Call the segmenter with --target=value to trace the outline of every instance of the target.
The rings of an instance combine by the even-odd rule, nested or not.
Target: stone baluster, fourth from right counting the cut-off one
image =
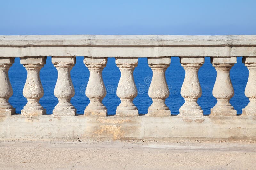
[[[148,96],[153,103],[148,108],[148,116],[171,116],[171,111],[165,104],[169,96],[169,88],[165,79],[165,70],[170,66],[171,58],[148,58],[148,66],[153,71],[152,81],[148,89]]]

